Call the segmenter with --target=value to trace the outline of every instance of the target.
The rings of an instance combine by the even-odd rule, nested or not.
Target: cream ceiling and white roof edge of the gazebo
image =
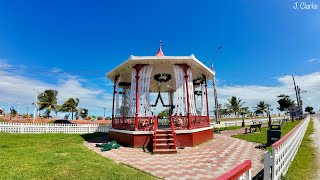
[[[124,61],[118,67],[107,73],[107,77],[114,82],[114,77],[120,75],[120,82],[131,82],[131,73],[133,66],[139,64],[153,65],[150,91],[158,92],[159,84],[154,80],[154,75],[158,73],[169,73],[172,79],[168,82],[162,83],[160,91],[166,92],[169,90],[175,90],[175,75],[173,65],[175,64],[187,64],[192,70],[193,79],[202,77],[205,75],[207,79],[211,79],[214,76],[207,66],[200,62],[194,55],[191,56],[130,56],[128,60]]]

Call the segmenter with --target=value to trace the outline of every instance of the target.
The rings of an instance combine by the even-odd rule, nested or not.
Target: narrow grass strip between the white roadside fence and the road
[[[312,139],[309,137],[314,132],[313,121],[311,120],[303,137],[300,148],[292,161],[285,179],[317,179],[316,149]]]

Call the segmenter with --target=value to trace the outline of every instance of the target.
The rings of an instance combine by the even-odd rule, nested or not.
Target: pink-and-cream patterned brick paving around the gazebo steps
[[[214,136],[199,146],[178,149],[177,154],[154,155],[129,147],[101,152],[95,143],[84,144],[104,157],[165,179],[213,179],[248,159],[252,161],[253,176],[263,169],[264,151],[255,148],[257,143],[232,138],[230,132]]]

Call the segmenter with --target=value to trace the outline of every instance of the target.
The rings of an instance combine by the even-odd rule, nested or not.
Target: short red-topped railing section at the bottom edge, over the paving
[[[219,176],[215,180],[237,179],[237,180],[251,180],[251,161],[246,160],[239,166],[233,168],[231,171]]]

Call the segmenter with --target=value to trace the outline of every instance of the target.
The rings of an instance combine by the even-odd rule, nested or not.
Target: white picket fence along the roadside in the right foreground
[[[278,180],[288,171],[308,128],[310,116],[272,145],[272,154],[264,154],[264,180]]]

